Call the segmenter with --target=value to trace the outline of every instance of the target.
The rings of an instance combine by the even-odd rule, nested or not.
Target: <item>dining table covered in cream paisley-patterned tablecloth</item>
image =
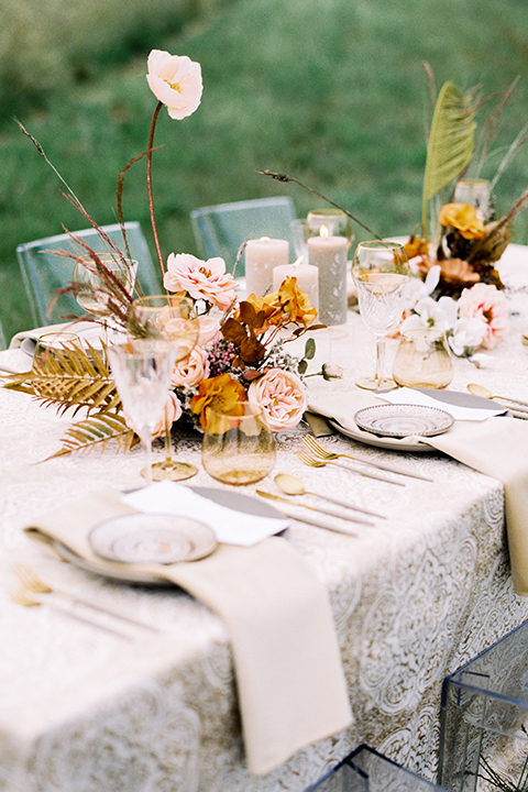
[[[448,391],[480,383],[528,400],[528,248],[509,245],[499,272],[510,332],[479,366],[454,358]],[[23,338],[0,353],[4,372],[31,367]],[[316,403],[352,393],[356,378],[372,373],[375,356],[374,338],[355,310],[320,338],[343,376],[307,378]],[[387,341],[388,365],[398,343],[396,337]],[[258,776],[248,768],[221,616],[184,587],[96,574],[24,531],[57,506],[70,507],[75,520],[76,504],[101,487],[144,486],[139,446],[57,455],[72,420],[32,395],[0,389],[0,789],[302,792],[362,743],[436,779],[443,679],[528,619],[528,598],[513,585],[499,479],[431,447],[366,444],[331,424],[319,437],[327,450],[411,475],[367,477],[344,458],[339,465],[308,466],[296,453],[312,436],[301,421],[277,432],[276,463],[266,479],[233,487],[201,466],[197,432],[176,433],[175,454],[198,468],[183,486],[232,493],[233,503],[240,494],[258,501],[257,490],[288,499],[274,476],[289,473],[311,493],[380,515],[341,532],[339,507],[333,517],[317,515],[326,527],[304,521],[315,513],[299,504],[329,506],[316,495],[275,503],[288,515],[283,538],[327,592],[353,719]],[[161,442],[154,453],[163,455]],[[34,607],[15,602],[20,564],[54,588],[133,622],[116,630],[116,620],[81,620],[44,596]]]

